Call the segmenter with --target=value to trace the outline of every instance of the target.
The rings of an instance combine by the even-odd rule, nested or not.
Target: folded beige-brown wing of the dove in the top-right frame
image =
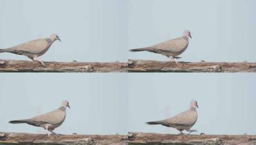
[[[184,48],[188,47],[189,40],[184,37],[179,37],[169,41],[165,41],[152,46],[156,50],[167,51],[171,53],[178,53],[183,51]]]

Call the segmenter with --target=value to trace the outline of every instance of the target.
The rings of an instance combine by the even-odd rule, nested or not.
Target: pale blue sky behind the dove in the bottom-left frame
[[[2,73],[0,131],[44,134],[44,129],[11,120],[30,118],[69,101],[59,134],[126,134],[127,74]]]

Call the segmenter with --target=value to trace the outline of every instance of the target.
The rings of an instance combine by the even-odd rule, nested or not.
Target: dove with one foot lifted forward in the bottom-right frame
[[[183,130],[186,130],[189,132],[189,134],[191,134],[192,132],[197,132],[197,130],[190,130],[190,128],[197,122],[197,108],[199,108],[197,101],[192,100],[187,111],[182,112],[172,118],[168,118],[161,121],[146,122],[146,124],[161,124],[163,126],[176,128],[182,135],[185,135],[182,132]]]

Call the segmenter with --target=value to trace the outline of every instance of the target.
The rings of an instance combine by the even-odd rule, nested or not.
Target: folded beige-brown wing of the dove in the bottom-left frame
[[[60,124],[62,123],[66,118],[66,112],[60,109],[57,109],[55,111],[42,114],[39,116],[35,116],[31,118],[31,121],[35,122],[43,122],[47,124]]]

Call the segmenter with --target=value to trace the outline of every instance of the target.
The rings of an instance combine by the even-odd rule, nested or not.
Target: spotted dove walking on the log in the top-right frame
[[[182,54],[189,46],[189,38],[192,39],[190,31],[184,31],[182,37],[178,37],[175,39],[171,39],[169,41],[165,41],[162,43],[158,43],[156,45],[139,48],[139,49],[132,49],[129,50],[130,52],[154,52],[159,53],[162,55],[171,58],[177,65],[178,62],[175,59],[180,59],[181,57],[177,57],[178,55]]]

